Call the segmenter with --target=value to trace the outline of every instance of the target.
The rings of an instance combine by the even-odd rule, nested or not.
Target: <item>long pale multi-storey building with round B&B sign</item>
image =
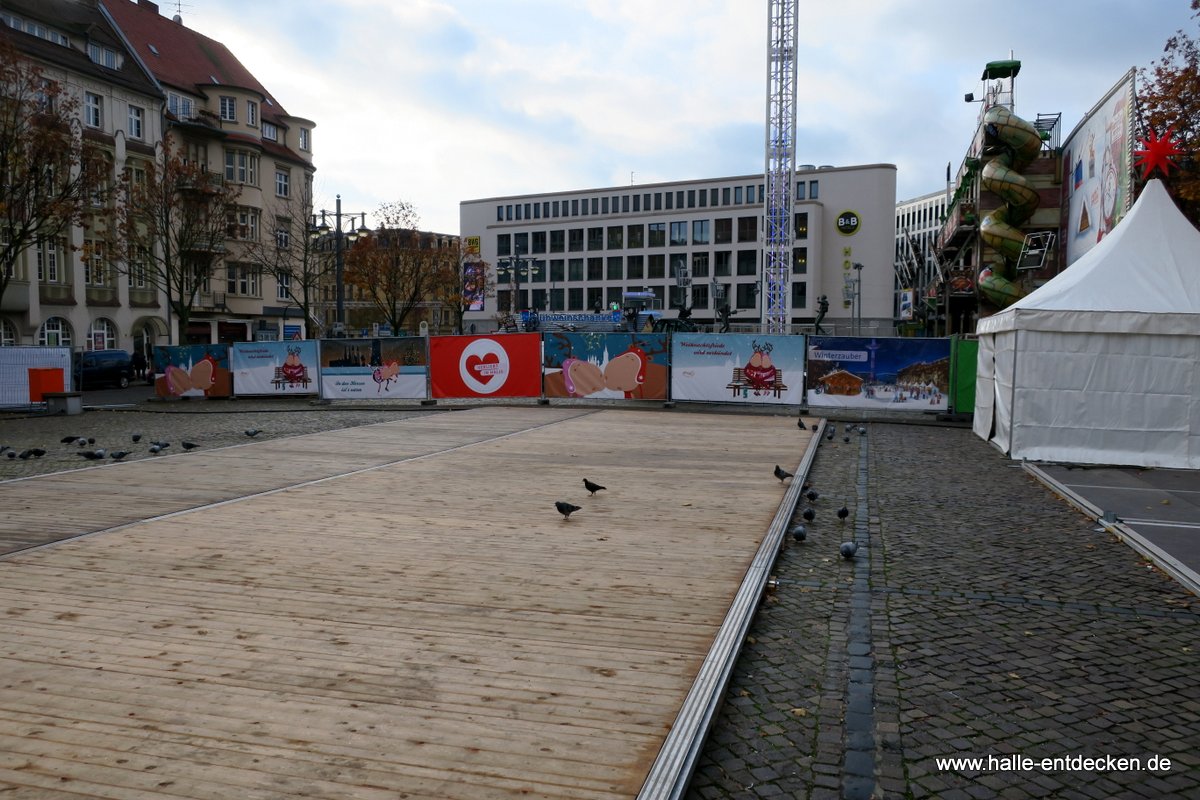
[[[890,335],[895,167],[804,166],[794,191],[792,326],[809,330],[827,296],[827,331],[860,320]],[[686,307],[701,324],[727,302],[736,326],[757,330],[762,218],[762,175],[466,200],[460,233],[479,237],[496,293],[464,321],[486,331],[508,312],[620,308],[642,291],[666,317]]]

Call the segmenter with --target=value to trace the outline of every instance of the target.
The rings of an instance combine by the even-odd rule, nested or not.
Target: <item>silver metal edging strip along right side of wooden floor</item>
[[[796,469],[796,475],[767,529],[767,535],[758,546],[758,552],[742,579],[742,585],[730,604],[730,610],[721,621],[713,646],[704,656],[696,680],[692,681],[688,697],[679,708],[674,724],[671,726],[671,733],[664,740],[662,748],[647,774],[637,800],[678,800],[688,790],[691,774],[696,769],[696,762],[700,759],[704,740],[708,738],[708,730],[716,718],[716,712],[730,682],[730,675],[733,673],[733,666],[742,651],[742,643],[745,640],[746,631],[750,628],[755,610],[758,608],[758,599],[770,577],[770,569],[779,554],[787,522],[800,498],[804,476],[809,474],[812,461],[816,458],[817,446],[826,425],[827,422],[821,420],[816,433],[809,440],[808,450]]]

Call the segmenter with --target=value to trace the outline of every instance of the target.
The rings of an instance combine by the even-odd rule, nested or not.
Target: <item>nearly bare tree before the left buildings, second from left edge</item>
[[[144,175],[126,173],[118,211],[118,269],[137,273],[167,295],[180,332],[226,254],[238,239],[236,185],[217,173],[167,155]],[[174,339],[172,339],[174,341]]]

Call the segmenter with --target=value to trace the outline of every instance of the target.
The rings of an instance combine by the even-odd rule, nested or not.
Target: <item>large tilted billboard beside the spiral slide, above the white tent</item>
[[[1130,70],[1063,143],[1067,266],[1104,239],[1132,204],[1133,97]]]

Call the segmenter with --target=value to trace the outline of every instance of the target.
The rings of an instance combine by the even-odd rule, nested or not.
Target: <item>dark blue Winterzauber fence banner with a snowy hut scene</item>
[[[810,336],[809,407],[944,411],[950,341]]]

